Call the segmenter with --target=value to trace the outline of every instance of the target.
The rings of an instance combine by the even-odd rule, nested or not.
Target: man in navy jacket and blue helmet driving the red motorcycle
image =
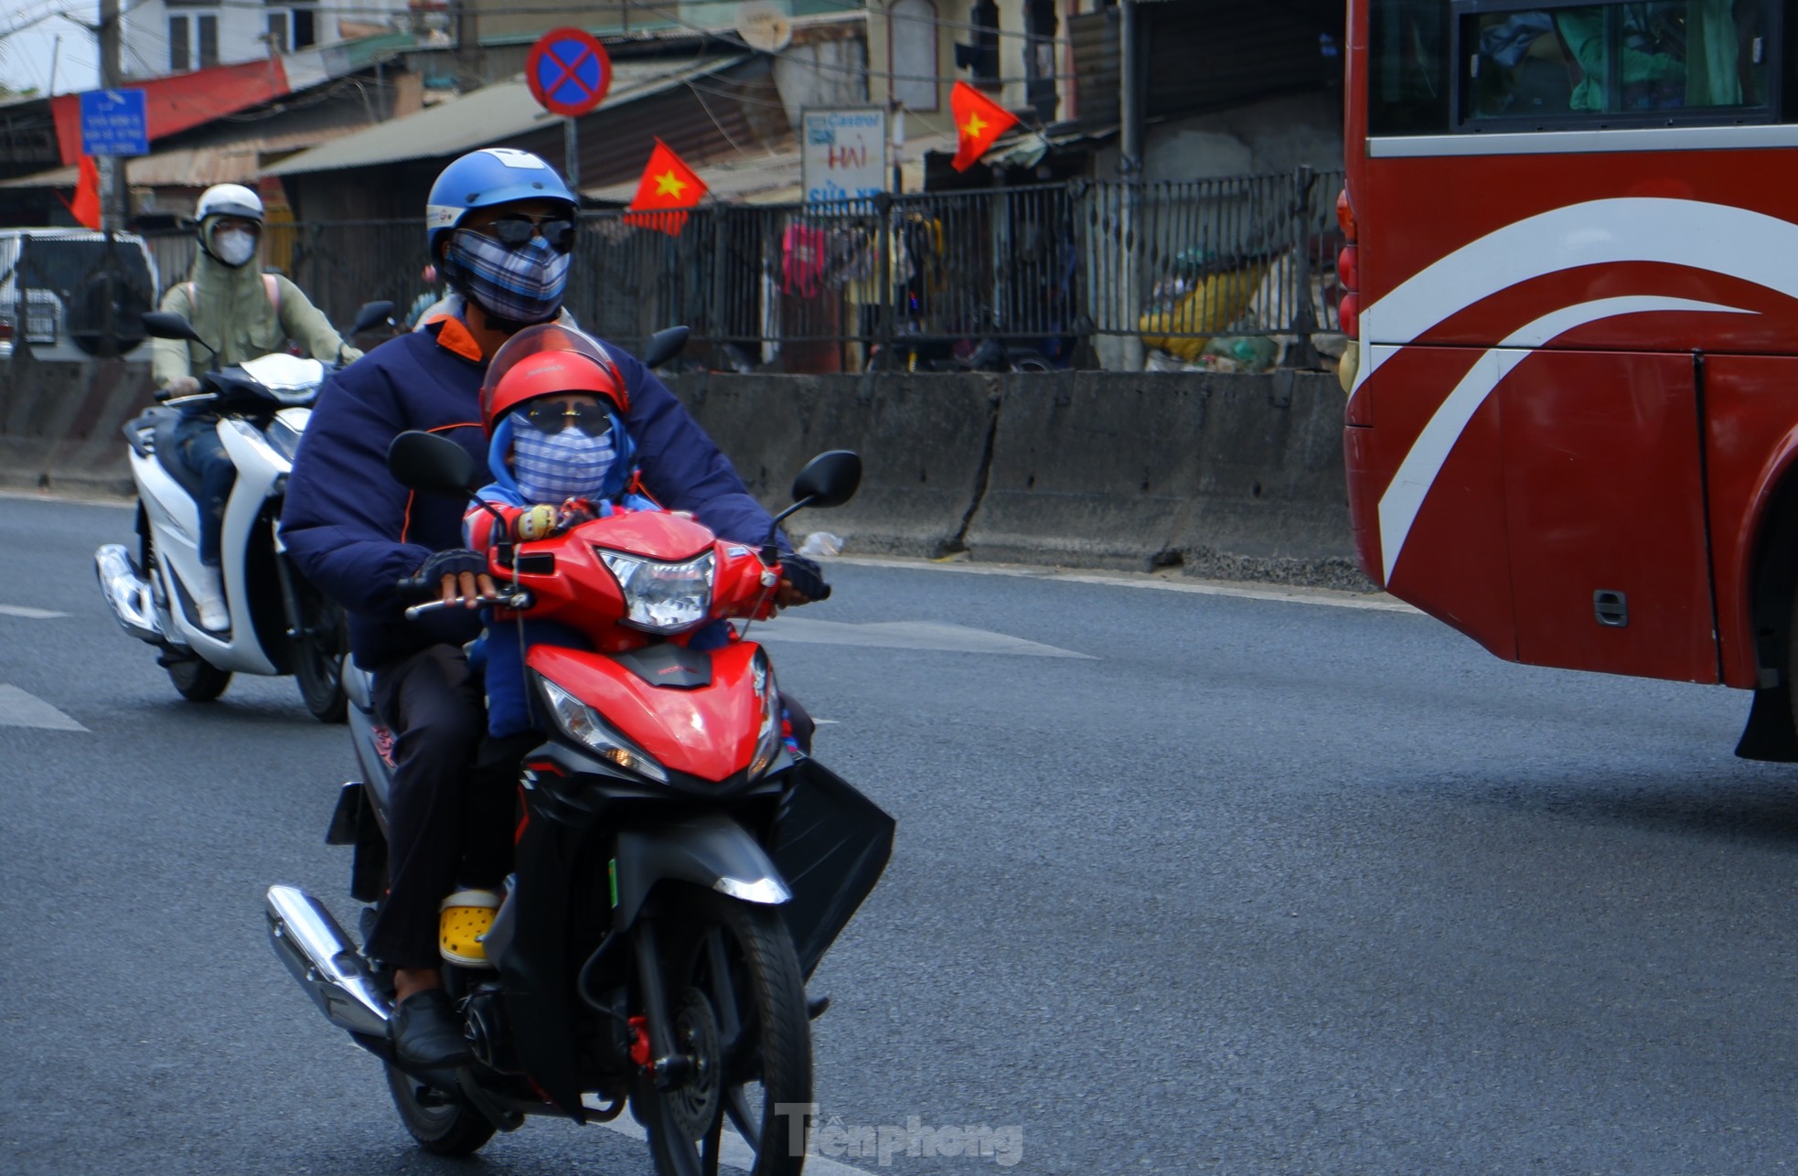
[[[405,430],[442,433],[484,466],[480,385],[493,352],[561,313],[577,198],[538,156],[489,147],[450,164],[426,205],[426,243],[455,291],[417,331],[331,378],[288,484],[282,538],[302,574],[349,611],[351,651],[397,732],[388,807],[388,894],[365,951],[394,969],[396,1052],[458,1065],[467,1041],[442,993],[439,903],[496,888],[509,869],[516,759],[484,741],[478,682],[462,646],[480,633],[485,557],[462,547],[466,503],[412,494],[387,471]],[[615,351],[628,428],[647,489],[716,534],[761,543],[770,516],[680,401]],[[816,565],[789,557],[777,601],[823,592]],[[396,584],[421,575],[467,608],[403,619]],[[460,883],[460,886],[458,886]]]

